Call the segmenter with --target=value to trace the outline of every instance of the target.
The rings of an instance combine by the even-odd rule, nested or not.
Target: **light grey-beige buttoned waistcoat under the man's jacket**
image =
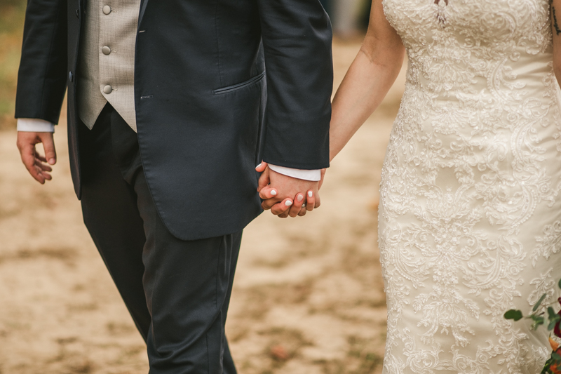
[[[135,44],[140,0],[88,0],[76,100],[88,128],[109,102],[136,131]]]

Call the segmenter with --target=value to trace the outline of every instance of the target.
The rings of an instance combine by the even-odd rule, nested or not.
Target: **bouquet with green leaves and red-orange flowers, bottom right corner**
[[[561,279],[559,283],[557,283],[559,288],[561,288]],[[545,314],[547,311],[547,319],[548,319],[548,330],[553,330],[553,334],[557,338],[561,338],[561,329],[560,329],[560,322],[561,322],[561,310],[555,313],[553,307],[555,302],[551,305],[548,305],[547,308],[544,306],[540,309],[541,303],[543,300],[546,300],[548,294],[544,293],[539,298],[538,302],[532,308],[532,314],[529,316],[523,316],[522,312],[518,309],[510,309],[504,314],[504,318],[506,319],[513,319],[514,321],[519,321],[522,318],[531,319],[532,320],[532,330],[536,330],[540,325],[544,325],[546,323]],[[557,299],[557,302],[561,305],[561,298]],[[540,312],[538,312],[540,309]],[[545,311],[544,311],[545,309]],[[550,359],[546,361],[546,364],[543,366],[541,370],[541,374],[561,374],[561,347],[558,342],[556,342],[552,337],[551,334],[549,335],[549,344],[553,351],[551,352]]]

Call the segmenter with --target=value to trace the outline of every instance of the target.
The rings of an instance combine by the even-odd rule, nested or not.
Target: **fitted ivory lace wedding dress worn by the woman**
[[[436,3],[436,4],[435,4]],[[561,91],[548,0],[384,0],[407,48],[381,176],[384,373],[538,374],[506,321],[561,278]]]

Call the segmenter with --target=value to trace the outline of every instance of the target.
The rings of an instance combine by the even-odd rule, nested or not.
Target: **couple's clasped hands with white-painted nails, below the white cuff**
[[[306,215],[313,208],[320,206],[318,190],[323,183],[325,169],[321,171],[321,179],[318,182],[292,178],[287,175],[272,171],[266,162],[259,163],[255,168],[261,174],[257,192],[263,199],[261,204],[264,210],[280,218],[296,217]]]

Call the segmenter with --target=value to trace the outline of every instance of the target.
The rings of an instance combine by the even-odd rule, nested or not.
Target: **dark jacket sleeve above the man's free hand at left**
[[[58,123],[67,85],[67,0],[29,0],[15,117]]]

